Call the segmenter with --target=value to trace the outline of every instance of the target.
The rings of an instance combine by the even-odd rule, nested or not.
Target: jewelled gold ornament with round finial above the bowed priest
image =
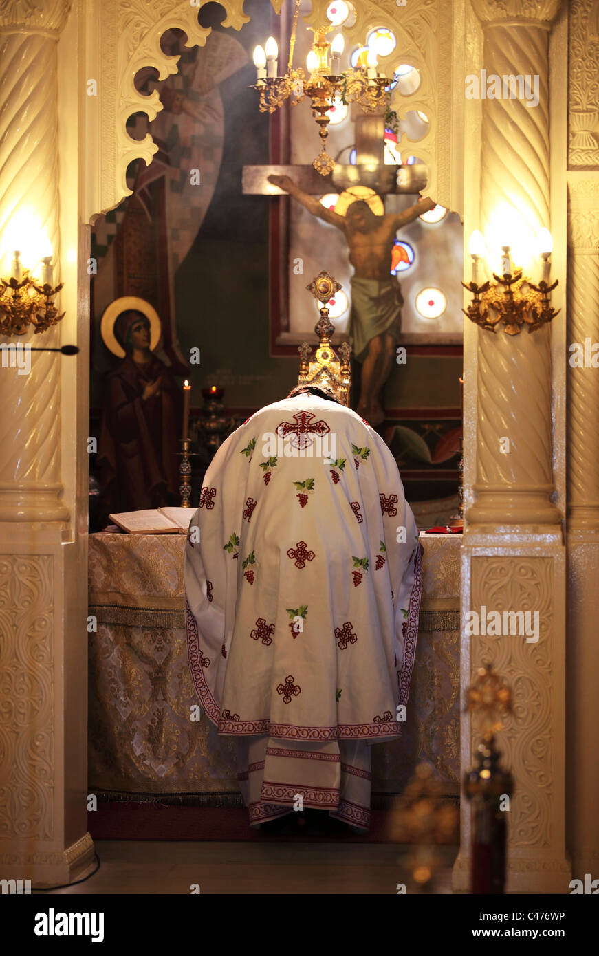
[[[333,349],[331,337],[334,333],[334,325],[329,318],[327,308],[327,303],[331,301],[334,293],[341,289],[341,285],[332,275],[329,275],[329,272],[320,272],[306,288],[315,299],[322,303],[320,318],[314,326],[314,332],[320,344],[313,358],[308,342],[302,342],[299,346],[297,351],[300,354],[300,370],[297,384],[312,385],[314,388],[322,388],[324,392],[332,392],[337,402],[349,405],[352,349],[348,342],[341,343],[338,354]]]

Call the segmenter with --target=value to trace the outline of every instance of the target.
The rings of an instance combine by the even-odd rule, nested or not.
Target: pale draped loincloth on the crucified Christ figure
[[[371,338],[388,333],[399,337],[399,318],[403,297],[394,278],[363,279],[352,276],[352,315],[349,333],[353,354],[364,361]]]

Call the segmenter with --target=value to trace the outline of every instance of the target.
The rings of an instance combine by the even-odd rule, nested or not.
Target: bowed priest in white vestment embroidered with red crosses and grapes
[[[251,824],[318,808],[368,829],[370,745],[399,735],[408,699],[420,554],[392,453],[334,400],[267,405],[219,448],[187,538],[187,641],[206,715],[238,738]]]

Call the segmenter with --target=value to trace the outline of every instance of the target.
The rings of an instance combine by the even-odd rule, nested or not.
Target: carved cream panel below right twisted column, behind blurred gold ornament
[[[474,556],[471,609],[537,611],[539,641],[525,637],[472,637],[472,676],[485,663],[512,688],[513,713],[497,735],[499,750],[515,779],[509,814],[509,843],[518,848],[548,848],[552,842],[551,798],[554,784],[555,647],[553,635],[553,560],[550,557]],[[475,745],[478,743],[475,734]],[[474,755],[475,747],[472,753]]]

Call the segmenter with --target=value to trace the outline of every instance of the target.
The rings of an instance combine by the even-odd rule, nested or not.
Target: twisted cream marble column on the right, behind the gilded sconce
[[[537,234],[550,225],[547,36],[559,0],[528,4],[525,19],[521,6],[516,0],[474,2],[487,76],[534,77],[528,98],[483,100],[481,231],[487,246],[497,249],[507,227],[515,266],[530,274]],[[517,14],[518,20],[510,18]],[[539,101],[533,105],[536,83]],[[531,278],[537,278],[534,271]],[[477,501],[468,523],[555,524],[560,513],[549,501],[550,330],[507,336],[501,328],[479,329],[478,353]]]

